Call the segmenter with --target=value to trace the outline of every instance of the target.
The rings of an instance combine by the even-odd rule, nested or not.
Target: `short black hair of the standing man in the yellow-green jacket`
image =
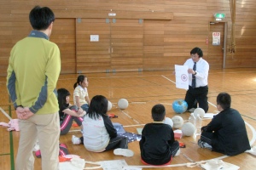
[[[29,20],[34,30],[46,30],[55,21],[55,14],[48,7],[36,6],[30,11]]]

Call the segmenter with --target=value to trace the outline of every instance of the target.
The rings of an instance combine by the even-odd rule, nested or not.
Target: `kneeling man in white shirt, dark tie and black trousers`
[[[193,48],[190,55],[191,58],[184,63],[189,66],[189,89],[185,101],[188,103],[188,111],[193,111],[199,104],[199,107],[207,113],[209,108],[207,102],[209,64],[202,59],[201,48]]]

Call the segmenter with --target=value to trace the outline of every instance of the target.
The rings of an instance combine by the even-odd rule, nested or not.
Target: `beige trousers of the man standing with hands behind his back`
[[[15,169],[34,169],[32,149],[38,139],[42,156],[42,170],[57,170],[59,168],[59,113],[56,112],[47,115],[35,114],[27,120],[19,120],[19,126],[20,141]]]

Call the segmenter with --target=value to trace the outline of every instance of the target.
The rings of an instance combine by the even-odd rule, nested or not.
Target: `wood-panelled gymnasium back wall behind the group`
[[[78,18],[87,20],[86,26],[75,23],[75,43],[65,47],[65,54],[73,55],[73,50],[76,53],[76,63],[73,59],[65,57],[63,65],[67,62],[72,62],[72,66],[76,65],[76,70],[65,66],[62,73],[69,72],[100,72],[112,71],[132,71],[134,68],[131,65],[142,65],[143,70],[158,70],[173,69],[173,65],[183,64],[185,59],[189,58],[191,48],[202,48],[205,58],[210,56],[211,47],[206,43],[206,39],[210,32],[210,21],[214,21],[213,14],[225,13],[226,18],[223,22],[227,23],[227,45],[226,45],[226,68],[236,67],[255,67],[255,38],[256,38],[256,2],[253,0],[237,0],[236,1],[236,53],[230,54],[228,49],[230,45],[230,1],[222,0],[52,0],[52,1],[32,1],[32,0],[0,0],[0,76],[6,76],[6,69],[9,59],[9,51],[23,37],[26,37],[31,26],[28,22],[28,14],[32,7],[39,4],[41,6],[49,6],[55,12],[56,19],[76,20]],[[115,17],[109,17],[108,13],[115,13]],[[125,51],[131,49],[126,45],[131,45],[140,48],[143,46],[143,54],[137,53],[135,49],[134,58],[119,59],[108,52],[110,48],[110,26],[99,26],[93,23],[93,20],[102,19],[103,23],[106,19],[109,20],[143,20],[143,36],[134,38],[135,42],[129,42],[129,38],[125,37],[124,33],[116,30],[119,34],[119,49]],[[151,20],[151,21],[149,21]],[[67,24],[67,23],[66,23]],[[71,24],[71,23],[70,23]],[[95,25],[96,24],[96,25]],[[126,25],[122,23],[121,25]],[[95,25],[95,26],[94,26]],[[122,26],[119,27],[122,27]],[[71,28],[72,26],[63,25]],[[135,33],[127,27],[127,32],[131,32],[131,37]],[[135,26],[136,27],[136,26]],[[56,27],[59,29],[60,27]],[[54,28],[55,29],[55,28]],[[141,28],[140,28],[141,29]],[[101,41],[91,43],[88,36],[92,33],[99,34]],[[107,33],[109,32],[109,33]],[[139,32],[141,33],[141,32]],[[122,36],[121,36],[122,35]],[[137,33],[138,35],[138,33]],[[113,35],[114,36],[114,35]],[[62,37],[56,37],[63,41]],[[55,39],[55,38],[53,38]],[[153,41],[154,40],[154,41]],[[123,41],[123,42],[122,42]],[[132,40],[133,41],[133,40]],[[61,42],[63,43],[63,42]],[[139,45],[137,45],[139,44]],[[85,50],[86,49],[86,50]],[[113,61],[113,62],[112,62]],[[96,63],[98,65],[96,66]],[[136,62],[136,64],[134,63]],[[214,68],[215,61],[210,61],[211,68]],[[86,65],[86,66],[84,66]],[[115,65],[115,66],[113,66]],[[210,65],[210,66],[211,66]],[[218,67],[218,66],[217,66]],[[67,69],[67,71],[65,71]],[[126,70],[128,69],[128,70]],[[137,71],[135,69],[134,71]]]

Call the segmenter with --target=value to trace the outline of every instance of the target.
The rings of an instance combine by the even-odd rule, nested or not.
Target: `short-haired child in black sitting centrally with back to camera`
[[[150,165],[169,164],[172,157],[180,153],[179,143],[174,139],[172,127],[163,122],[166,117],[165,106],[154,105],[151,113],[154,122],[143,127],[139,143],[142,161]]]

